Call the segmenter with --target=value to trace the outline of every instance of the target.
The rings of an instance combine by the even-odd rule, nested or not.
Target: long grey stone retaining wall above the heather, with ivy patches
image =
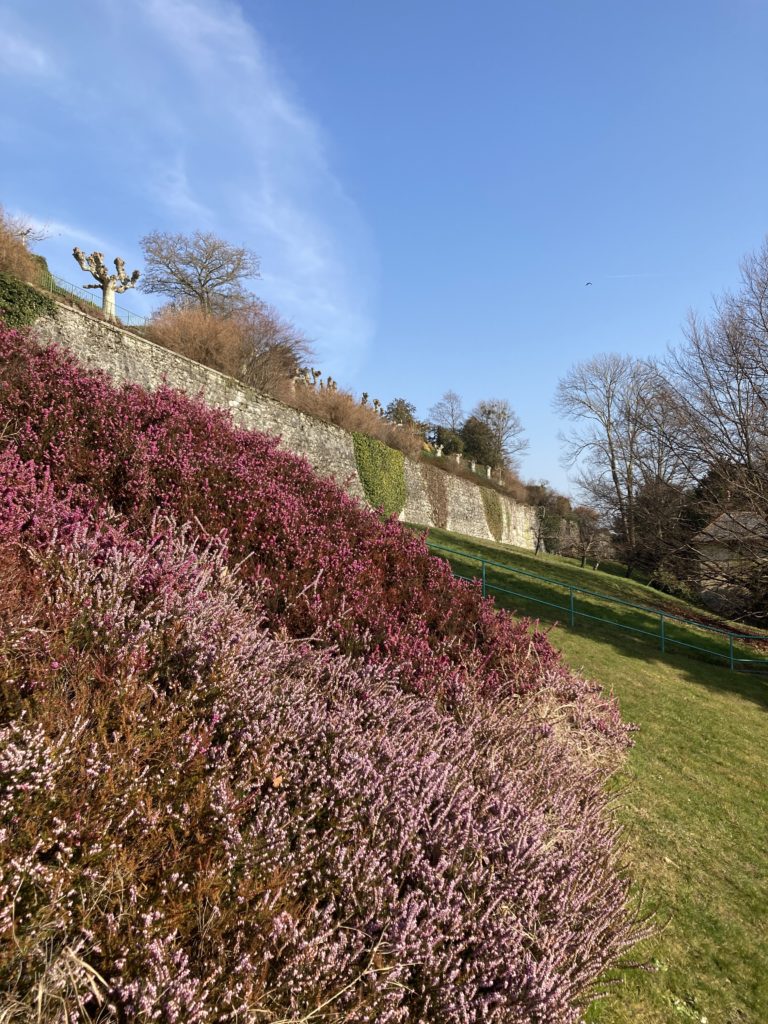
[[[350,495],[365,501],[352,437],[345,430],[300,413],[139,335],[94,319],[62,303],[57,306],[55,319],[45,317],[35,325],[35,336],[42,344],[63,345],[84,366],[104,371],[119,384],[138,384],[147,390],[167,384],[225,410],[239,426],[280,437],[284,447],[304,456],[319,475],[333,477]],[[447,528],[492,540],[480,484],[451,473],[442,475]],[[439,512],[430,502],[426,468],[408,458],[406,487],[408,497],[400,518],[425,526],[438,525]],[[504,520],[502,541],[532,550],[534,510],[503,495],[499,497]]]

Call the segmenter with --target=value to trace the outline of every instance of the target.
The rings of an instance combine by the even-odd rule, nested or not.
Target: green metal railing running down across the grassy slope
[[[636,636],[650,638],[662,654],[684,650],[725,663],[731,671],[740,669],[768,673],[768,658],[752,656],[754,651],[749,647],[750,643],[766,644],[768,638],[733,633],[659,608],[633,604],[610,594],[539,575],[504,562],[490,561],[480,555],[430,542],[427,542],[427,546],[430,551],[441,553],[450,562],[454,575],[461,580],[479,582],[483,597],[499,594],[562,612],[562,616],[556,616],[557,621],[570,628],[574,628],[580,622],[601,623]],[[457,563],[461,565],[463,562],[470,562],[469,568],[476,566],[476,571],[470,575],[457,571]],[[518,589],[506,586],[507,583],[512,583]],[[615,608],[613,617],[606,617],[605,605]],[[707,640],[710,643],[705,646]]]

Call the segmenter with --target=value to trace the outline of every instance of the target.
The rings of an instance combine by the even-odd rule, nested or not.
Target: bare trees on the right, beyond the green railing
[[[731,614],[768,615],[768,240],[667,357],[580,362],[555,408],[629,572],[672,589],[716,579]]]

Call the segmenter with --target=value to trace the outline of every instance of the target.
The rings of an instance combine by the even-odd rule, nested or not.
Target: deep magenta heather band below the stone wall
[[[273,629],[387,665],[403,687],[443,699],[467,686],[496,696],[544,687],[569,709],[580,741],[591,736],[607,757],[626,743],[614,702],[570,674],[543,634],[224,414],[170,389],[117,389],[0,330],[0,423],[8,451],[74,505],[110,509],[133,529],[150,530],[161,512],[225,536]]]

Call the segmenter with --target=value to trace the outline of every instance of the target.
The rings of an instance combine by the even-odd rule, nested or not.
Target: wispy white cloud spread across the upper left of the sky
[[[86,33],[83,5],[71,17],[47,0],[37,32],[34,4],[5,4],[0,59],[38,75],[47,51],[58,61],[60,88],[44,103],[18,90],[17,166],[0,167],[0,181],[8,200],[57,221],[45,251],[59,272],[75,244],[140,266],[147,231],[213,231],[260,256],[254,290],[315,339],[334,377],[353,375],[373,336],[373,246],[322,125],[254,24],[259,5],[102,0]],[[20,170],[32,143],[29,160],[55,163],[44,202]]]

